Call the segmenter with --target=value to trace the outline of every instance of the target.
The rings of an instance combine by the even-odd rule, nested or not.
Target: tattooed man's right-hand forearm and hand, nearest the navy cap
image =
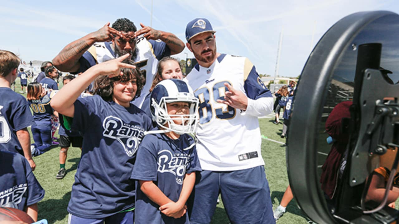
[[[176,35],[174,35],[173,33],[156,30],[149,26],[144,26],[142,23],[140,23],[140,26],[142,27],[142,29],[136,31],[136,33],[134,34],[136,37],[144,33],[144,37],[147,39],[160,39],[164,41],[166,45],[168,45],[171,55],[175,55],[183,51],[183,41],[176,37]]]

